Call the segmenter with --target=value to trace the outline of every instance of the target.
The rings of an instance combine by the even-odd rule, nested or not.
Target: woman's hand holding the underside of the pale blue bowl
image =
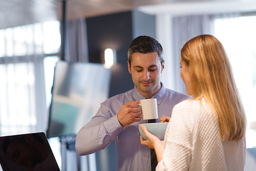
[[[155,148],[156,145],[161,143],[160,139],[157,138],[155,135],[151,134],[150,132],[147,131],[146,126],[140,125],[141,130],[145,133],[147,140],[144,140],[140,136],[140,143],[142,145],[146,145],[148,148]]]

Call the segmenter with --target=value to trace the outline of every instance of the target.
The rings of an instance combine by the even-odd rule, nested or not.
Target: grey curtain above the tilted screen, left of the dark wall
[[[86,18],[67,22],[65,60],[89,62]]]

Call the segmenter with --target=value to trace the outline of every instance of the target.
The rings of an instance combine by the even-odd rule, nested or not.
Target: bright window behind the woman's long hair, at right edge
[[[247,148],[256,147],[256,16],[215,19],[247,117]]]

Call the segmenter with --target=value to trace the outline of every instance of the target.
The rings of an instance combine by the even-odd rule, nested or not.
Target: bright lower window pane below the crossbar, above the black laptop
[[[1,133],[35,131],[35,75],[32,62],[0,65]]]

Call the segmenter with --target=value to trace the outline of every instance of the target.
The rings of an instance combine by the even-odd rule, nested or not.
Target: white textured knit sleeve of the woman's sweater
[[[191,156],[191,120],[183,102],[177,104],[167,126],[164,143],[165,150],[156,170],[188,170]]]

